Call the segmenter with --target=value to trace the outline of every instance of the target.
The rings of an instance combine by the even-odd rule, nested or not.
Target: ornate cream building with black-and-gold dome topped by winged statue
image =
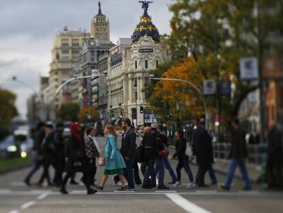
[[[159,36],[157,27],[148,15],[148,3],[142,1],[144,14],[127,44],[113,47],[109,56],[108,112],[111,120],[129,117],[135,126],[150,125],[144,86],[149,83],[150,71],[156,69],[170,56]],[[119,46],[119,45],[118,45]],[[114,49],[120,50],[115,54]]]

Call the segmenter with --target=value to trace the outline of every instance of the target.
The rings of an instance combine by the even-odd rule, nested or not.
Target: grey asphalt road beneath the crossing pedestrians
[[[105,138],[97,138],[101,147]],[[172,160],[172,166],[176,161]],[[193,175],[196,166],[191,165]],[[282,192],[271,192],[263,186],[254,185],[250,192],[243,192],[243,181],[234,179],[230,192],[221,192],[217,186],[209,188],[187,189],[187,175],[183,172],[183,186],[162,191],[157,188],[145,190],[136,186],[135,192],[116,192],[119,186],[113,186],[109,178],[103,192],[85,195],[85,187],[67,185],[69,195],[61,195],[58,188],[42,186],[27,187],[23,179],[28,168],[0,176],[0,212],[282,212]],[[36,182],[42,171],[38,171],[31,179]],[[51,175],[53,171],[51,170]],[[98,168],[96,184],[103,175],[103,167]],[[142,177],[142,174],[140,174]],[[206,183],[210,183],[206,175]],[[77,181],[81,174],[77,174]],[[219,183],[225,176],[217,174]],[[165,172],[165,183],[170,175]],[[169,186],[169,185],[168,185]]]

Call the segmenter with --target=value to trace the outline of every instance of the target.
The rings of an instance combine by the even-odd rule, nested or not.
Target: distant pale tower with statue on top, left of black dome
[[[109,19],[102,14],[100,1],[98,2],[98,14],[92,18],[90,33],[94,39],[110,42]]]

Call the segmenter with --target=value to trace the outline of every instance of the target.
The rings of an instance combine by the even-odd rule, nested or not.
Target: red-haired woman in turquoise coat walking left
[[[103,187],[109,177],[109,175],[119,175],[122,187],[118,190],[126,190],[126,181],[124,179],[124,168],[126,164],[117,146],[117,134],[112,125],[106,125],[104,128],[104,134],[108,135],[105,143],[105,168],[103,179],[96,187],[99,190],[103,190]]]

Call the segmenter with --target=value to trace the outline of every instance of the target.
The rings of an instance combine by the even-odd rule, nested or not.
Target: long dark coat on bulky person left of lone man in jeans
[[[213,147],[211,137],[204,127],[198,126],[193,130],[193,151],[198,164],[213,163]]]

